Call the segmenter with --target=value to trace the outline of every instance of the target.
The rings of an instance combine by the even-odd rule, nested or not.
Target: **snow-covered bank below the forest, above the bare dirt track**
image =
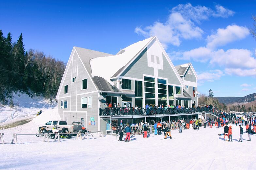
[[[57,107],[56,102],[50,103],[43,97],[30,98],[26,94],[13,94],[14,107],[0,108],[0,126],[18,121],[29,120],[35,117],[38,111],[43,113],[52,111]]]

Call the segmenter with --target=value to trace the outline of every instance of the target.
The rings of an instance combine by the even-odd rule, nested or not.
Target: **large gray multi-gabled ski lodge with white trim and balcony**
[[[68,124],[82,122],[90,131],[104,134],[114,133],[121,121],[191,118],[202,112],[197,110],[197,79],[191,63],[172,64],[156,36],[116,55],[74,46],[56,96],[58,113]],[[146,104],[183,108],[146,108]]]

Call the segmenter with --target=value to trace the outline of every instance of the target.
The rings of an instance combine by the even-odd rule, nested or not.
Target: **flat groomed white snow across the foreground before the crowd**
[[[29,127],[27,124],[21,127]],[[116,141],[116,136],[84,140],[61,139],[44,142],[42,137],[18,136],[19,144],[9,144],[12,133],[27,133],[27,128],[5,129],[0,145],[0,169],[255,169],[253,157],[255,135],[243,135],[239,143],[239,126],[232,126],[233,142],[223,140],[223,127],[200,130],[172,130],[173,139],[136,135],[131,142]],[[31,131],[32,131],[31,126]],[[245,130],[245,126],[243,126]],[[136,139],[136,140],[135,140]],[[163,140],[161,140],[163,139]],[[51,139],[52,141],[53,139]]]

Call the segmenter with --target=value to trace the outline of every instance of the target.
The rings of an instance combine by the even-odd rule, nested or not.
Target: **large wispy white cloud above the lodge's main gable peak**
[[[155,21],[145,28],[136,27],[135,33],[149,37],[152,32],[157,36],[164,48],[168,45],[180,46],[182,39],[201,38],[203,30],[195,25],[200,20],[207,20],[210,16],[231,16],[233,12],[222,6],[216,6],[216,11],[204,6],[192,6],[190,3],[179,4],[171,9],[166,22]],[[223,15],[221,15],[223,14]]]

